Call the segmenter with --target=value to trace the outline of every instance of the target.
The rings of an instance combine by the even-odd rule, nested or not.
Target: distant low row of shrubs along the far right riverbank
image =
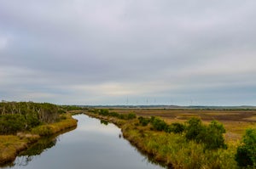
[[[98,115],[113,116],[113,117],[117,117],[117,118],[123,119],[123,120],[132,120],[132,119],[136,119],[137,118],[135,113],[118,114],[116,112],[109,112],[109,110],[107,110],[107,109],[90,110],[90,112],[98,114]]]

